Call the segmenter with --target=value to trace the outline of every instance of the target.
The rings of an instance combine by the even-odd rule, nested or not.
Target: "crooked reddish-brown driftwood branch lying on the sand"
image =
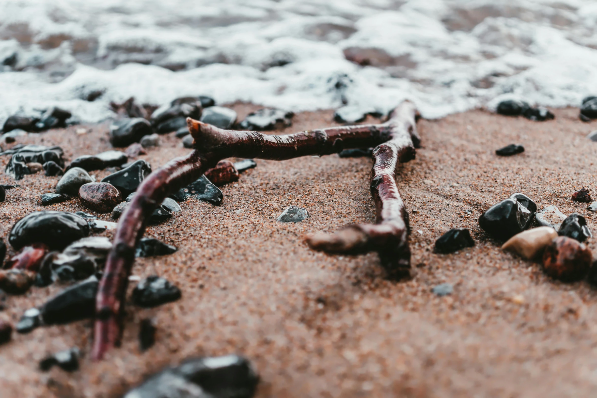
[[[256,131],[224,130],[188,118],[195,150],[168,162],[149,175],[122,214],[106,261],[96,299],[92,356],[101,359],[121,337],[121,315],[136,243],[143,236],[153,210],[171,192],[197,180],[225,158],[284,160],[307,155],[330,155],[343,149],[376,147],[371,194],[377,206],[377,224],[350,226],[333,235],[316,235],[307,242],[328,252],[377,251],[390,274],[410,267],[408,215],[398,192],[398,162],[414,158],[420,138],[416,109],[405,101],[383,124],[315,129],[296,134],[267,135]]]

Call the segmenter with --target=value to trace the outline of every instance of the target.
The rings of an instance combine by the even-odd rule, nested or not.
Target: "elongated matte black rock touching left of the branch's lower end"
[[[97,277],[91,276],[64,289],[41,307],[42,320],[46,325],[56,325],[93,317],[97,286]]]

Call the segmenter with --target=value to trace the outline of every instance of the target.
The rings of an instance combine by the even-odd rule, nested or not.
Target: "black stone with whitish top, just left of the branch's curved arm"
[[[86,279],[103,269],[110,249],[112,249],[112,242],[105,236],[84,237],[70,243],[56,255],[51,261],[51,270],[70,267],[72,275],[67,280]],[[66,282],[62,277],[59,279]]]

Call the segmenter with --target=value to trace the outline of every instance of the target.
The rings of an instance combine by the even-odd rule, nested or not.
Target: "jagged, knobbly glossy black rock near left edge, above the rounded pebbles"
[[[15,146],[11,150],[2,152],[2,155],[13,155],[4,171],[15,180],[20,180],[24,175],[30,174],[27,163],[44,164],[53,161],[59,166],[64,165],[64,160],[62,159],[63,151],[58,146],[26,145],[17,147]]]

